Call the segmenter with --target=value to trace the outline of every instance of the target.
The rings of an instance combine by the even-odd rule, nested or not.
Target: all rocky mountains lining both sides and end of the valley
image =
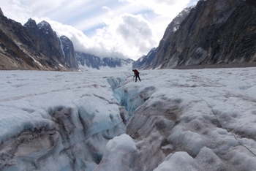
[[[79,71],[122,67],[189,69],[256,66],[256,3],[254,0],[200,0],[167,26],[158,47],[131,59],[99,58],[75,52],[71,40],[46,21],[29,19],[24,26],[0,9],[0,69]]]

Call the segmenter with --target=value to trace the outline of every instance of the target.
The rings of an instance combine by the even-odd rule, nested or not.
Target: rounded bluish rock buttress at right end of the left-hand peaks
[[[78,61],[75,58],[74,45],[66,36],[61,36],[61,49],[63,50],[64,58],[72,68],[79,69]]]

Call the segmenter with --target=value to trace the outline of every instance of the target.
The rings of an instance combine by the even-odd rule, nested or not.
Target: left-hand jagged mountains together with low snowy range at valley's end
[[[7,19],[0,10],[0,24],[0,69],[78,71],[78,63],[99,69],[127,66],[133,62],[75,52],[72,41],[66,36],[59,38],[45,20],[37,24],[30,18],[22,26]]]

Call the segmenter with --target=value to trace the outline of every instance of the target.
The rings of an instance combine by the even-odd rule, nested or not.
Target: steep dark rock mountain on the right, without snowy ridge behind
[[[198,1],[177,31],[167,27],[152,68],[256,66],[255,15],[252,0]]]

